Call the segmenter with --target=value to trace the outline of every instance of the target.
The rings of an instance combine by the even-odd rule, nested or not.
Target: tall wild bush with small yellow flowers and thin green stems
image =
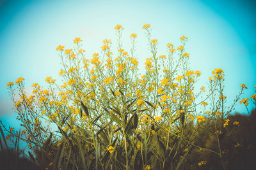
[[[180,46],[168,43],[167,53],[157,53],[157,39],[150,25],[143,25],[150,57],[145,73],[134,55],[137,34],[132,33],[131,50],[122,46],[121,25],[116,25],[118,51],[111,51],[111,40],[104,39],[102,52],[85,55],[81,39],[74,48],[58,46],[62,69],[59,85],[47,77],[47,88],[33,84],[33,95],[26,96],[24,78],[7,84],[24,130],[13,129],[6,138],[19,135],[29,147],[29,156],[42,169],[200,169],[209,168],[204,159],[189,162],[189,155],[209,152],[225,169],[225,153],[220,138],[230,125],[224,96],[222,69],[214,69],[205,87],[195,92],[201,73],[189,66],[185,52],[188,38]],[[17,96],[18,99],[17,99]],[[255,101],[255,95],[252,96]],[[249,99],[240,103],[246,106]],[[239,122],[231,122],[234,129]],[[2,124],[3,125],[3,124]],[[204,143],[212,136],[214,147]],[[237,143],[237,147],[238,147]],[[36,157],[35,157],[36,156]]]

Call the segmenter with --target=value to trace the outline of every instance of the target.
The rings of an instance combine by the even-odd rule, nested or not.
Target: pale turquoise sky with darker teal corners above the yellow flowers
[[[58,76],[58,45],[72,48],[72,40],[83,39],[88,57],[100,52],[102,40],[113,41],[115,25],[124,29],[124,48],[129,35],[138,34],[137,57],[144,67],[148,52],[143,24],[152,25],[152,38],[159,41],[159,55],[166,44],[186,46],[192,69],[202,72],[200,86],[206,85],[214,68],[225,71],[225,96],[234,101],[241,83],[250,97],[256,85],[256,10],[253,1],[7,1],[0,0],[0,117],[12,126],[15,114],[6,83],[20,76],[28,91],[33,83],[45,85],[45,78]],[[198,88],[200,88],[198,86]],[[251,105],[252,106],[252,105]],[[236,111],[246,113],[237,104]],[[1,118],[1,119],[2,119]]]

